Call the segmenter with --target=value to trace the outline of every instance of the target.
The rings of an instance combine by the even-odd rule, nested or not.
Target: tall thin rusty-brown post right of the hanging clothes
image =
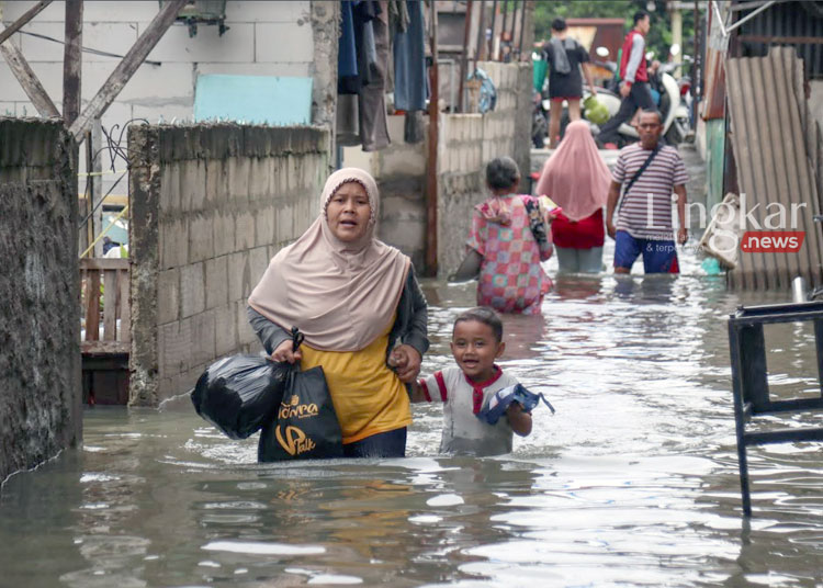
[[[471,14],[471,2],[466,9],[466,19]],[[428,177],[426,178],[426,275],[437,276],[437,231],[438,231],[438,182],[437,147],[440,109],[440,77],[438,75],[437,55],[437,2],[431,2],[431,97],[429,98],[429,157]],[[465,75],[463,75],[465,77]],[[461,78],[461,87],[463,80]]]

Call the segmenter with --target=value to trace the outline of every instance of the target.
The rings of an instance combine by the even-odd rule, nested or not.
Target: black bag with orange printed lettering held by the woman
[[[292,338],[296,350],[303,336],[292,329]],[[301,372],[300,364],[295,363],[286,377],[274,421],[263,426],[257,460],[279,462],[342,456],[342,431],[323,368]]]

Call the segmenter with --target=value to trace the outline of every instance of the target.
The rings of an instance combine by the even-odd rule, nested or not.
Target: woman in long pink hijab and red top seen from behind
[[[606,237],[602,207],[611,173],[597,150],[588,123],[575,121],[557,150],[543,166],[537,194],[552,199],[563,212],[552,223],[552,239],[562,272],[602,270]]]

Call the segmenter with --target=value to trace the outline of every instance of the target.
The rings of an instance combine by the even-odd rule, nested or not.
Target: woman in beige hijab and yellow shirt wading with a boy
[[[420,371],[426,298],[408,257],[374,236],[380,194],[363,170],[326,181],[322,213],[275,255],[249,297],[249,321],[274,361],[323,365],[347,456],[405,455],[404,384]],[[290,330],[305,341],[292,352]]]

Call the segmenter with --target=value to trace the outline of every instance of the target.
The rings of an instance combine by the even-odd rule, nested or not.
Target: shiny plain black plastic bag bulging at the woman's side
[[[211,364],[192,392],[198,415],[232,439],[246,439],[274,418],[283,398],[288,363],[232,355]]]

